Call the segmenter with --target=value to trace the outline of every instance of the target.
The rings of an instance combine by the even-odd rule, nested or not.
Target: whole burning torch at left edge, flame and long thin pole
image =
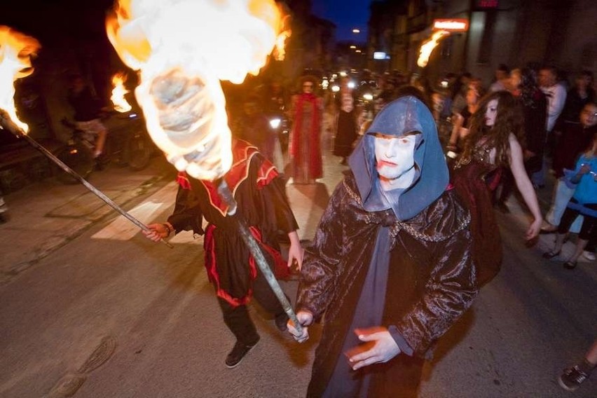
[[[50,160],[53,160],[53,162],[62,168],[64,172],[71,174],[71,176],[80,181],[85,188],[88,188],[92,193],[95,193],[98,198],[104,200],[105,203],[121,213],[133,224],[145,231],[150,231],[149,227],[135,217],[132,217],[128,212],[125,212],[122,207],[114,203],[114,201],[104,195],[102,191],[99,191],[95,186],[89,184],[89,182],[83,179],[81,175],[65,165],[62,160],[58,159],[53,153],[48,151],[48,149],[41,146],[38,142],[32,139],[32,137],[27,135],[29,126],[26,123],[22,123],[16,114],[14,82],[18,78],[24,78],[33,73],[34,69],[31,60],[32,57],[36,55],[39,48],[41,48],[39,41],[33,37],[16,32],[6,26],[0,26],[0,127],[4,130],[8,130],[16,137],[25,139],[35,149],[50,158]],[[163,240],[163,242],[168,247],[172,247],[172,245],[165,240]]]

